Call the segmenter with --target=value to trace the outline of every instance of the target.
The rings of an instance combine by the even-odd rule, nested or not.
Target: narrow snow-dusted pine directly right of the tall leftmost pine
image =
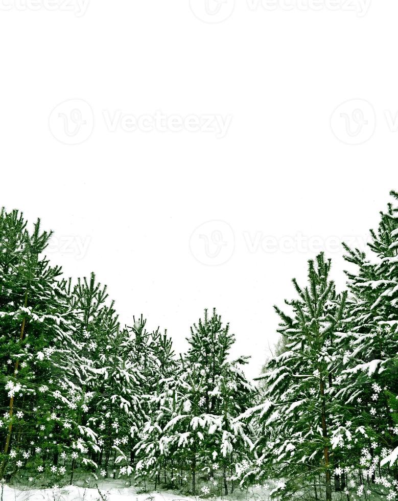
[[[64,416],[66,430],[63,461],[70,468],[70,482],[75,470],[86,467],[96,470],[100,446],[97,443],[98,388],[103,382],[100,360],[107,336],[117,327],[113,304],[107,307],[106,286],[97,282],[92,273],[89,280],[78,279],[75,286],[67,283],[69,308],[74,313],[74,341],[77,349],[65,343],[58,346],[54,357],[54,372],[58,389],[55,396]],[[109,330],[109,325],[111,329]],[[84,473],[86,474],[86,473]]]

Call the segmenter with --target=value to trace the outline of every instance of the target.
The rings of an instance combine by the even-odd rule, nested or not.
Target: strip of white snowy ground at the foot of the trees
[[[183,496],[171,491],[137,493],[135,487],[121,487],[117,483],[100,483],[100,493],[96,488],[65,486],[59,489],[17,489],[4,486],[2,501],[197,501],[199,497]],[[264,491],[244,491],[240,499],[260,501],[268,499]],[[236,496],[225,496],[225,499],[236,499]]]

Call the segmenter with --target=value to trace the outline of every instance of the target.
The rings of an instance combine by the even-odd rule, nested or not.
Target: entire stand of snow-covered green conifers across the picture
[[[178,355],[142,316],[120,325],[94,274],[65,278],[46,257],[52,233],[39,220],[3,210],[1,482],[108,477],[202,497],[264,486],[281,499],[396,499],[398,194],[390,195],[367,252],[344,245],[345,290],[323,253],[309,261],[307,283],[286,284],[293,299],[275,307],[275,355],[254,382],[248,357],[230,358],[235,336],[216,310],[188,329]]]

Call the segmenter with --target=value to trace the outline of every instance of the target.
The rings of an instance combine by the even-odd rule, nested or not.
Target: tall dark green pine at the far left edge
[[[1,470],[9,477],[31,468],[38,452],[44,461],[56,454],[51,358],[59,339],[74,341],[61,270],[43,254],[51,232],[40,220],[30,232],[17,211],[2,211],[0,232]]]

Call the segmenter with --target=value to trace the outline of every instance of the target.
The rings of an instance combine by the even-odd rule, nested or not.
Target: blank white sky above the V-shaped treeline
[[[65,275],[95,271],[122,322],[143,313],[176,351],[216,306],[255,377],[291,278],[325,248],[343,286],[331,237],[363,247],[398,189],[398,3],[236,0],[223,20],[232,0],[207,17],[205,0],[34,2],[0,0],[0,204],[41,217]],[[230,125],[127,130],[157,110]]]

